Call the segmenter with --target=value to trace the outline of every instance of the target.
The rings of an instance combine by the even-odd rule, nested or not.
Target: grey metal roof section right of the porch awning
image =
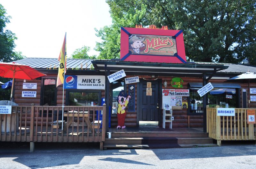
[[[244,65],[244,64],[235,64],[235,63],[211,63],[211,62],[195,62],[196,64],[222,64],[224,66],[228,66],[227,69],[217,71],[218,73],[236,73],[242,74],[245,72],[256,73],[256,67],[252,65]]]

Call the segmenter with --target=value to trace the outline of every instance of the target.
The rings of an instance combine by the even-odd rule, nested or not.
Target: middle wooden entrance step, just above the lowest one
[[[210,144],[209,137],[117,137],[106,138],[105,144]]]

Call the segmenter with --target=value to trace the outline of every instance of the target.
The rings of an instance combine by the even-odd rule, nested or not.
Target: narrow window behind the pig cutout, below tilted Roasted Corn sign
[[[112,114],[116,114],[118,105],[117,96],[121,90],[124,90],[124,81],[114,81],[112,84]]]

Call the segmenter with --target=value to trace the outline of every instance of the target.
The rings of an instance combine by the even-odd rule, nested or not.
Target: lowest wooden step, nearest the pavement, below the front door
[[[215,147],[217,144],[104,144],[104,148],[189,148],[189,147]]]

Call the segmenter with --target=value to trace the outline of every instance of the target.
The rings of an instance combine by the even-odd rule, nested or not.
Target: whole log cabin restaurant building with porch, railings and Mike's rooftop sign
[[[255,117],[256,85],[228,81],[256,67],[187,62],[179,30],[121,28],[120,60],[67,59],[64,94],[62,85],[56,87],[57,58],[15,62],[46,76],[15,79],[16,104],[11,115],[0,114],[0,141],[30,142],[33,151],[35,142],[98,142],[103,150],[256,140],[255,120],[247,116],[250,111]],[[206,85],[209,91],[198,92]],[[24,95],[28,91],[33,97]],[[122,92],[128,103],[118,127]],[[234,115],[221,116],[220,108]]]

